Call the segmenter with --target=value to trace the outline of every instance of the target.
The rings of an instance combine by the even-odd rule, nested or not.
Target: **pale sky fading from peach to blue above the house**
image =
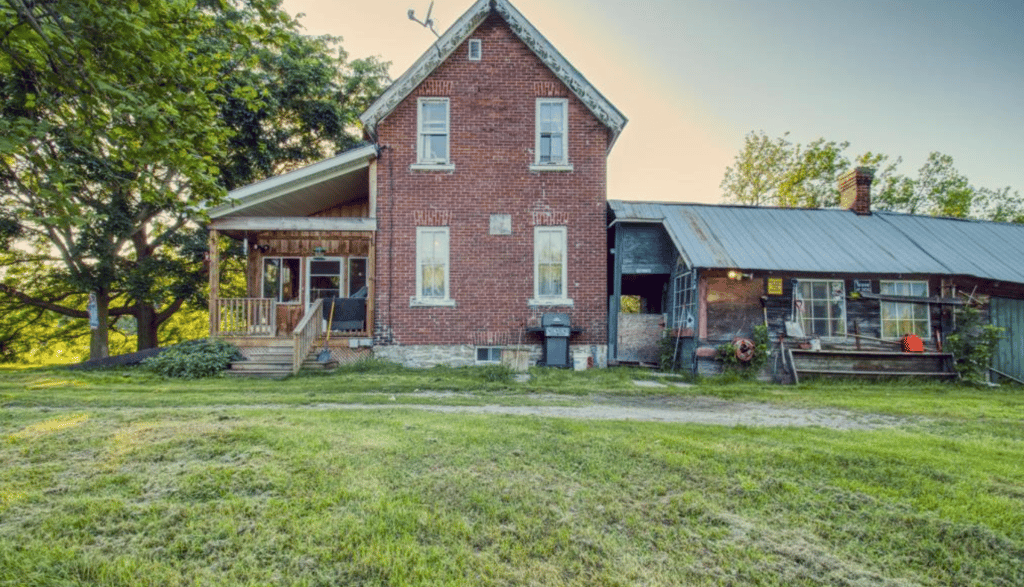
[[[512,0],[629,119],[608,198],[721,202],[751,131],[932,151],[975,186],[1024,193],[1024,0]],[[343,37],[397,78],[435,40],[430,0],[285,0],[308,34]],[[443,33],[473,0],[435,0]]]

